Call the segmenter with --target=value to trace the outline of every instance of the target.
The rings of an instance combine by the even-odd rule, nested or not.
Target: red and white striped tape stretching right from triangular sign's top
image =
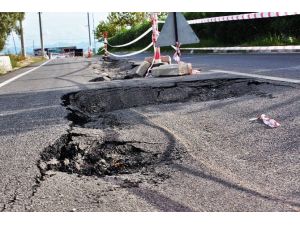
[[[256,13],[246,13],[239,15],[230,16],[218,16],[203,19],[189,20],[189,24],[199,24],[199,23],[215,23],[224,21],[234,21],[234,20],[252,20],[252,19],[262,19],[271,17],[282,17],[282,16],[294,16],[300,15],[300,12],[256,12]],[[165,23],[165,21],[158,21],[159,23]]]

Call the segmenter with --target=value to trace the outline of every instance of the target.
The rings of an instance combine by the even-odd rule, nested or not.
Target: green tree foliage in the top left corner
[[[5,41],[13,30],[19,34],[18,21],[24,19],[24,13],[11,12],[0,13],[0,51],[4,48]]]

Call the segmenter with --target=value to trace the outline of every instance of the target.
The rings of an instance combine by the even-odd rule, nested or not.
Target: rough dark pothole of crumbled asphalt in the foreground
[[[57,170],[105,176],[146,170],[163,160],[159,151],[143,148],[138,142],[103,140],[97,136],[70,133],[44,149],[38,166],[42,174]]]

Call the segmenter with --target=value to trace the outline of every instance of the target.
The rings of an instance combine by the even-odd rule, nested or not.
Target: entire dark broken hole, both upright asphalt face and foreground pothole
[[[68,119],[73,122],[71,129],[68,134],[44,149],[38,167],[42,174],[47,170],[58,170],[106,176],[140,172],[158,163],[170,163],[174,158],[164,158],[163,151],[156,151],[158,145],[151,146],[152,149],[144,149],[134,140],[126,142],[118,138],[99,139],[86,133],[74,133],[72,129],[88,129],[86,125],[93,122],[97,124],[93,129],[114,129],[120,126],[119,121],[109,115],[115,110],[155,104],[220,100],[243,95],[273,97],[268,91],[273,93],[274,89],[276,85],[272,83],[235,78],[178,81],[162,86],[114,87],[69,93],[62,97],[62,102],[70,111]]]

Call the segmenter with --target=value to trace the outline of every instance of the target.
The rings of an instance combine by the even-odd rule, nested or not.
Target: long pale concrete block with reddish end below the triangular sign
[[[192,74],[192,64],[180,62],[179,64],[162,65],[151,70],[154,77],[182,76]]]

